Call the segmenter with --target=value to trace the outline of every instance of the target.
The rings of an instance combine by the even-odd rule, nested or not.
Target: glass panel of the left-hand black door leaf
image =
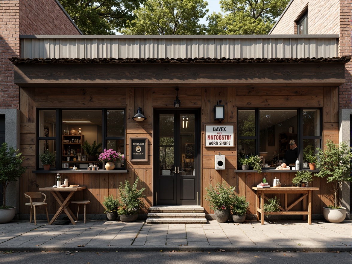
[[[160,175],[174,175],[175,141],[174,115],[161,114],[159,122],[159,170]]]

